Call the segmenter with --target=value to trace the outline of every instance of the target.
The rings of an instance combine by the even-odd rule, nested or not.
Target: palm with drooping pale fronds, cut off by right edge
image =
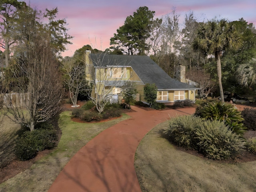
[[[256,84],[256,59],[252,58],[252,61],[242,64],[237,69],[239,83],[244,86],[251,87]],[[249,85],[250,84],[250,85]]]

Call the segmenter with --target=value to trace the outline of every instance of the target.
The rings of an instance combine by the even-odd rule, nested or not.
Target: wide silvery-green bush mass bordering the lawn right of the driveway
[[[234,134],[224,122],[197,116],[173,118],[163,133],[174,144],[216,160],[233,158],[245,144],[244,139]]]

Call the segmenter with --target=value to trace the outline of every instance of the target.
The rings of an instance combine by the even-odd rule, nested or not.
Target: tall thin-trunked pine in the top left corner
[[[0,46],[4,48],[5,65],[9,66],[10,46],[14,44],[14,23],[18,18],[18,10],[26,6],[25,2],[17,0],[0,1]]]

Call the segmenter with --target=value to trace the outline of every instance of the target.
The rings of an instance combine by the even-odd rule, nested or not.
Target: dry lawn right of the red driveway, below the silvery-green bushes
[[[153,128],[135,155],[135,170],[143,192],[253,192],[256,161],[228,164],[176,150],[160,137],[168,122]]]

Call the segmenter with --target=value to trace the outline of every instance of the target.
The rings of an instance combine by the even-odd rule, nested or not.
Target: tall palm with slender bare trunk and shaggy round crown
[[[235,26],[226,19],[208,20],[205,24],[201,24],[192,44],[195,50],[200,50],[208,55],[214,54],[217,63],[218,83],[222,102],[224,102],[224,94],[221,80],[220,57],[224,50],[228,48],[237,49],[240,45],[240,34]]]

